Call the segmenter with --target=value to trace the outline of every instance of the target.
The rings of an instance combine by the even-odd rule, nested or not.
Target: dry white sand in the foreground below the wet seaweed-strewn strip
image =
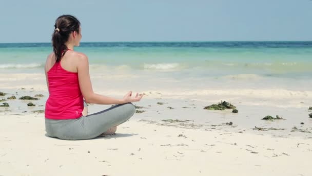
[[[311,139],[130,120],[111,137],[69,141],[46,137],[42,114],[0,120],[0,175],[312,174]]]

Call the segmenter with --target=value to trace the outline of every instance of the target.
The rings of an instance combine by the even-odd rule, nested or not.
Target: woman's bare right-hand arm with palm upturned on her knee
[[[127,102],[140,101],[143,95],[135,96],[131,98],[132,92],[127,93],[123,99],[116,99],[112,97],[107,97],[99,94],[95,94],[92,89],[90,74],[89,74],[89,61],[88,57],[84,54],[77,54],[77,72],[79,79],[79,86],[83,97],[87,103],[95,104],[123,104]]]

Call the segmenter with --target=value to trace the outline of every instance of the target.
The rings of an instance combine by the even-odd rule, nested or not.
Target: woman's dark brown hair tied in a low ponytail
[[[52,34],[53,52],[56,62],[60,62],[68,50],[65,43],[68,41],[70,33],[73,31],[80,33],[80,22],[72,15],[62,15],[55,20],[54,27]]]

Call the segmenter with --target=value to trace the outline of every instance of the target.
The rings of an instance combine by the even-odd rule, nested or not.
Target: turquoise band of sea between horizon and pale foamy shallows
[[[84,52],[91,66],[105,68],[197,76],[312,76],[312,42],[81,43],[75,50]],[[0,44],[1,72],[41,72],[51,51],[50,43]]]

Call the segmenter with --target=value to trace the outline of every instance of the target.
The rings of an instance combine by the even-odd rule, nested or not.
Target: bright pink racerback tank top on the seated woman
[[[45,117],[59,120],[81,117],[84,101],[78,74],[66,71],[60,62],[55,62],[47,77],[50,95],[46,102]]]

